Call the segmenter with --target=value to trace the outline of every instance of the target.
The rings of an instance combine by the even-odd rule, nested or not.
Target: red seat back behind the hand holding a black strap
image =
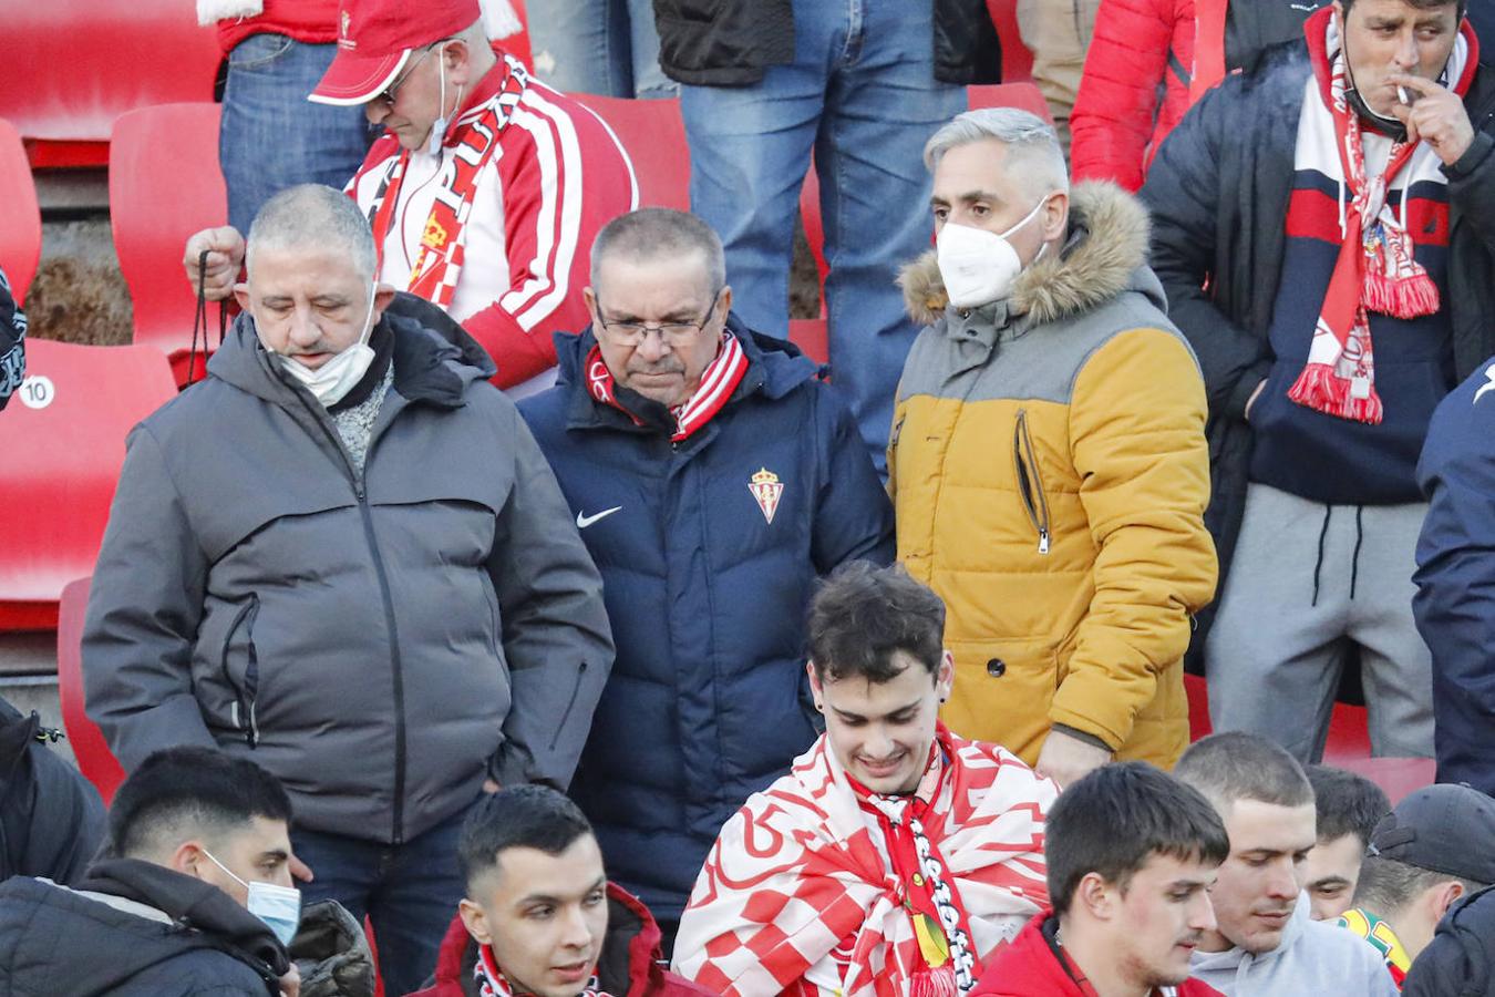
[[[197,299],[182,275],[182,247],[227,223],[218,172],[218,105],[169,103],[120,117],[109,149],[109,223],[135,305],[135,342],[161,350],[185,384]],[[218,306],[209,305],[212,347]],[[200,350],[200,347],[199,347]],[[205,356],[193,368],[202,377]]]

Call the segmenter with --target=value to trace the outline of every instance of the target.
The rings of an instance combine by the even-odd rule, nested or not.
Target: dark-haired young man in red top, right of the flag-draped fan
[[[1189,957],[1215,925],[1230,852],[1197,789],[1147,762],[1094,770],[1048,812],[1048,895],[972,991],[990,997],[1209,997]]]

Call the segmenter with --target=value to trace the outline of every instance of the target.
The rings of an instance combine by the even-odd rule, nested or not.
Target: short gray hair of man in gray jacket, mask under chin
[[[330,250],[347,256],[372,281],[378,254],[368,218],[351,197],[323,184],[287,187],[265,202],[250,224],[244,266],[254,274],[256,250]]]

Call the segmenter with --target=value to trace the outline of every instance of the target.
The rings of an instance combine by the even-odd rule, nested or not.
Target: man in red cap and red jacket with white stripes
[[[531,390],[544,387],[550,335],[588,323],[594,235],[638,206],[611,130],[495,49],[477,0],[342,0],[338,54],[308,100],[363,105],[386,129],[347,185],[374,226],[380,280],[462,323],[499,387],[547,375]],[[230,294],[242,260],[232,227],[187,241],[187,275],[209,300]]]

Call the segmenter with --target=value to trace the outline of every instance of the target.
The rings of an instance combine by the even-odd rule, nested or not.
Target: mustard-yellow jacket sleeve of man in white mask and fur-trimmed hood
[[[1153,701],[1157,676],[1183,659],[1190,614],[1214,595],[1203,429],[1199,369],[1162,329],[1112,338],[1075,381],[1070,453],[1099,553],[1049,719],[1112,749]]]

